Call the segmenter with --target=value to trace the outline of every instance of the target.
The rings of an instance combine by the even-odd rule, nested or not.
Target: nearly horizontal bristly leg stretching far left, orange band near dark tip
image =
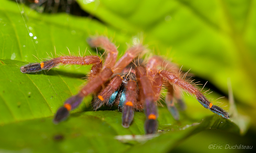
[[[98,56],[88,55],[85,57],[77,56],[61,56],[51,60],[45,60],[41,63],[30,63],[24,66],[21,66],[22,73],[31,73],[39,72],[42,70],[49,70],[59,64],[70,64],[70,65],[89,65],[89,64],[98,64],[102,65],[102,61]]]

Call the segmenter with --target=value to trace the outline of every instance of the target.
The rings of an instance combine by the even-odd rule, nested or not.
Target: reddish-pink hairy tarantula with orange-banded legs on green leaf
[[[105,49],[107,55],[104,65],[102,59],[97,55],[83,57],[70,55],[45,60],[41,63],[30,63],[20,68],[22,73],[31,73],[49,70],[59,64],[92,64],[87,84],[77,95],[71,96],[64,102],[64,106],[58,109],[53,119],[54,123],[66,119],[69,111],[77,108],[85,96],[94,93],[95,96],[92,100],[94,110],[103,105],[118,106],[118,110],[122,111],[122,126],[124,128],[128,128],[131,124],[134,110],[144,110],[147,118],[145,121],[146,134],[155,133],[158,117],[156,101],[159,100],[163,83],[168,83],[165,86],[168,90],[165,102],[175,119],[179,119],[179,113],[174,106],[174,98],[184,108],[180,89],[196,96],[203,107],[224,118],[229,118],[227,112],[213,105],[191,82],[179,78],[178,69],[169,61],[163,60],[159,56],[152,56],[146,61],[144,59],[144,64],[139,65],[139,61],[135,61],[134,58],[145,51],[141,44],[128,48],[116,62],[117,47],[109,39],[103,36],[91,37],[87,42],[91,47]],[[163,65],[165,69],[161,69]]]

